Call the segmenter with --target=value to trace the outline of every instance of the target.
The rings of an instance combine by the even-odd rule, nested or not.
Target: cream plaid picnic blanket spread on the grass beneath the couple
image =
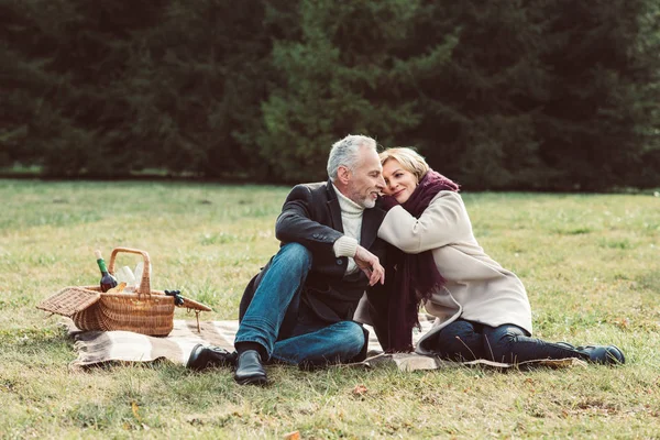
[[[421,330],[416,330],[413,340],[416,343],[432,326],[433,318],[420,315]],[[233,341],[239,329],[238,320],[204,321],[199,331],[196,321],[175,319],[174,329],[166,338],[147,337],[131,331],[81,331],[76,328],[70,319],[64,321],[68,334],[75,339],[75,349],[78,358],[70,363],[72,369],[82,369],[107,363],[133,363],[168,360],[173,363],[186,365],[193,348],[202,343],[216,345],[228,351],[233,351]],[[381,365],[396,365],[402,371],[437,370],[442,367],[457,367],[470,365],[486,365],[498,369],[512,369],[529,365],[544,365],[550,367],[584,366],[586,363],[578,359],[539,360],[519,364],[505,364],[486,360],[471,362],[449,362],[432,356],[416,353],[384,354],[376,339],[375,332],[369,326],[370,340],[367,351],[372,355],[365,361],[341,365],[342,367],[377,367]]]

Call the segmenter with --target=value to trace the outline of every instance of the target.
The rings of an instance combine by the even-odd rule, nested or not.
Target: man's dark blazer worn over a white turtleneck
[[[365,209],[360,239],[360,244],[378,256],[383,265],[387,245],[377,238],[377,232],[385,213],[378,207]],[[333,250],[334,242],[342,235],[341,208],[331,182],[297,185],[292,189],[277,218],[275,237],[282,244],[294,242],[306,246],[311,252],[312,262],[300,293],[299,305],[292,305],[287,310],[279,332],[280,339],[286,338],[286,333],[298,320],[328,324],[352,320],[365,290],[370,296],[381,294],[380,289],[369,289],[369,278],[360,270],[344,276],[349,258],[334,256]],[[240,320],[268,266],[270,263],[245,288],[241,299]]]

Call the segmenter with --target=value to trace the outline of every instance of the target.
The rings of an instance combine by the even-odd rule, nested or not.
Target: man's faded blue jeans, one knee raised
[[[332,324],[300,316],[293,330],[280,339],[279,329],[290,307],[297,309],[311,253],[298,243],[288,243],[271,261],[248,307],[234,344],[256,342],[268,358],[290,364],[327,364],[355,358],[365,344],[362,327],[353,321]]]

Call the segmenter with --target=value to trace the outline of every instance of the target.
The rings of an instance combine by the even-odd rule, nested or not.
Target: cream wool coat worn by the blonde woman
[[[531,309],[522,283],[484,253],[458,193],[438,193],[419,219],[400,206],[392,208],[378,237],[409,254],[431,250],[447,279],[444,288],[425,304],[437,319],[419,340],[418,353],[429,353],[424,341],[458,318],[492,327],[513,323],[531,334]]]

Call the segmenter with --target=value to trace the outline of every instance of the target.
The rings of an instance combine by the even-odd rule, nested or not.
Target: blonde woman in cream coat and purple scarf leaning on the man
[[[476,242],[459,186],[411,148],[389,148],[381,153],[381,163],[388,212],[378,237],[403,251],[394,258],[397,295],[391,295],[388,307],[389,351],[410,348],[424,304],[437,319],[417,344],[420,354],[506,363],[565,358],[625,362],[615,345],[573,346],[531,338],[525,287]]]

